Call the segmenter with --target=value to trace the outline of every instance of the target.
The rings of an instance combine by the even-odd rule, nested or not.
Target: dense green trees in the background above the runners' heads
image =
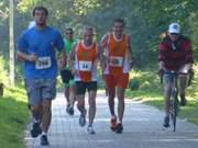
[[[1,3],[4,5],[2,8],[8,10],[8,2],[6,4],[3,0]],[[125,32],[132,38],[133,57],[140,67],[156,56],[158,35],[167,30],[170,22],[179,22],[184,34],[193,38],[195,49],[198,45],[198,2],[195,0],[20,0],[15,5],[15,43],[19,34],[32,20],[32,9],[35,5],[45,5],[50,11],[48,23],[62,32],[65,27],[73,26],[78,38],[81,26],[90,24],[96,27],[99,41],[111,30],[114,18],[123,18],[127,22]],[[6,46],[8,48],[8,44],[4,44],[3,48]]]

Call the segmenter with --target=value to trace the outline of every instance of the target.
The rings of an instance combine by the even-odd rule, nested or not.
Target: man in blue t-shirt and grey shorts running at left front
[[[52,100],[56,95],[56,49],[61,53],[61,64],[66,64],[62,35],[46,25],[47,14],[46,8],[34,8],[35,26],[24,31],[18,43],[18,60],[23,61],[25,88],[33,115],[31,135],[37,137],[42,134],[43,146],[48,145],[46,134],[52,118]]]

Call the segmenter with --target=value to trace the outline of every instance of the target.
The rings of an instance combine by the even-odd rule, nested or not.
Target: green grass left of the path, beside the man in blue
[[[0,148],[24,148],[24,129],[29,121],[23,89],[4,89],[0,98]]]

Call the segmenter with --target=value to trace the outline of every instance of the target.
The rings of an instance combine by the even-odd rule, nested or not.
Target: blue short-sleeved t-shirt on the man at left
[[[37,58],[47,57],[51,66],[44,69],[36,68],[35,62],[24,61],[25,79],[53,79],[57,76],[56,49],[64,49],[62,35],[53,27],[44,30],[32,27],[19,38],[18,49],[25,54],[35,54]]]

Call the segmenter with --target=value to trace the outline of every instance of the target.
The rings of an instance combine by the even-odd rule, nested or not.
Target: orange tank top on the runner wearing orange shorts
[[[123,64],[128,49],[128,36],[123,35],[122,39],[117,41],[113,34],[109,35],[109,72],[113,75],[123,73]]]

